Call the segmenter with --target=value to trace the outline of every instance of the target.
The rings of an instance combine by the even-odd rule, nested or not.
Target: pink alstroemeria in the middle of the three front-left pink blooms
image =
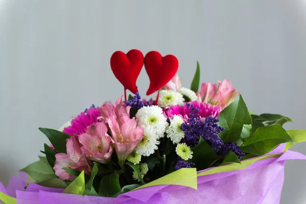
[[[104,122],[88,126],[86,133],[79,136],[79,141],[83,144],[82,151],[89,159],[103,164],[110,162],[113,147]]]

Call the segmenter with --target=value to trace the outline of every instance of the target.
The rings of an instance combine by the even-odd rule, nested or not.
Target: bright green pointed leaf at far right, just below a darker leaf
[[[259,127],[240,149],[253,155],[264,155],[276,145],[285,142],[293,140],[281,125]]]

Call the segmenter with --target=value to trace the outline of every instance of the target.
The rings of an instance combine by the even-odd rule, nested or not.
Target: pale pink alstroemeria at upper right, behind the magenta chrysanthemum
[[[201,89],[197,92],[199,101],[206,104],[210,103],[214,106],[221,106],[222,110],[230,105],[238,95],[239,92],[235,90],[232,82],[229,80],[218,81],[217,84],[210,82],[203,83],[201,84]]]

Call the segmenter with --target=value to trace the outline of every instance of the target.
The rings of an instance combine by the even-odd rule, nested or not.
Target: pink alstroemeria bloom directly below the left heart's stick
[[[122,96],[119,97],[115,103],[111,103],[110,101],[106,102],[103,106],[98,108],[101,117],[99,119],[105,120],[106,118],[113,116],[113,115],[119,115],[120,113],[125,113],[130,115],[130,106],[125,106],[124,102],[122,101]]]

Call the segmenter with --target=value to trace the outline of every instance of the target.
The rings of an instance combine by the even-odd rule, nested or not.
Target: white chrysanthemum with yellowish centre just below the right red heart
[[[161,90],[158,98],[158,106],[169,108],[175,105],[184,105],[183,95],[172,90]]]

